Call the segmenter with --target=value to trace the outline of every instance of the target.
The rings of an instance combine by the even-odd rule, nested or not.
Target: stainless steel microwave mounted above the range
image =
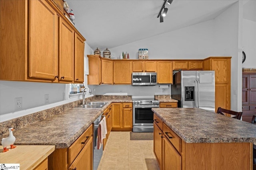
[[[132,86],[155,86],[156,72],[133,72]]]

